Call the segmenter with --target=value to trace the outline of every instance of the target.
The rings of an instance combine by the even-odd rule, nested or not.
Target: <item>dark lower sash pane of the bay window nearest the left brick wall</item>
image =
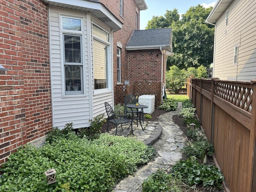
[[[66,91],[82,90],[82,71],[83,71],[83,66],[65,65]]]

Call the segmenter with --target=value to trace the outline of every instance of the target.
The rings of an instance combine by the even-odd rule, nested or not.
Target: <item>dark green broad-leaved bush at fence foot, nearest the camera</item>
[[[216,166],[198,164],[194,158],[178,161],[172,167],[172,175],[191,186],[203,184],[204,187],[216,186],[221,189],[224,181],[222,172]]]

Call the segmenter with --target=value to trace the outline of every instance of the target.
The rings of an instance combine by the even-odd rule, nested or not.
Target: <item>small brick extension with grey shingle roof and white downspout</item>
[[[129,82],[161,82],[164,96],[166,57],[172,55],[172,29],[135,30],[126,50]]]

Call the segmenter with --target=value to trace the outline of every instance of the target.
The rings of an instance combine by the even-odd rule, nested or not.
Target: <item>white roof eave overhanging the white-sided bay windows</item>
[[[109,26],[113,32],[122,29],[122,22],[100,2],[90,0],[42,0],[51,6],[69,8],[92,13],[96,18]],[[86,2],[86,5],[84,5]],[[84,6],[83,6],[84,5]]]

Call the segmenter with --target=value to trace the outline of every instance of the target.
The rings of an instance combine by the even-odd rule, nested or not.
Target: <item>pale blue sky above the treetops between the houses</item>
[[[148,21],[153,16],[163,16],[166,14],[166,10],[178,10],[179,14],[184,14],[191,6],[197,6],[198,4],[208,8],[214,7],[217,0],[145,0],[148,9],[140,11],[140,29],[143,30],[148,24]]]

